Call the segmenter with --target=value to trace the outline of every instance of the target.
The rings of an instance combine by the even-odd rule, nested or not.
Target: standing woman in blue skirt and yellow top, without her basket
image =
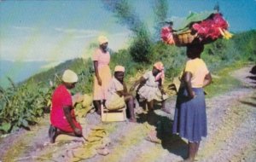
[[[177,103],[172,132],[188,139],[188,158],[194,161],[201,137],[207,136],[207,113],[203,87],[211,83],[212,77],[200,55],[203,44],[187,46],[189,60],[183,70],[182,82],[177,94]]]

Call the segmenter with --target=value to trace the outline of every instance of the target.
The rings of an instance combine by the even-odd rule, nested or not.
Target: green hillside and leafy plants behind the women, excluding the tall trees
[[[209,93],[207,97],[232,90],[239,84],[227,73],[244,67],[248,63],[255,64],[255,43],[256,31],[252,30],[237,33],[230,40],[218,39],[214,43],[206,45],[201,56],[202,59],[207,63],[207,67],[214,76],[223,76],[223,78],[214,78],[213,83],[215,84],[207,87],[206,90]],[[139,73],[151,69],[155,61],[162,61],[165,65],[167,88],[167,85],[172,83],[172,78],[176,77],[183,69],[186,60],[185,48],[156,42],[150,45],[150,51],[148,61],[141,62],[134,60],[130,49],[119,50],[111,55],[110,67],[113,69],[116,65],[123,65],[126,69],[125,80],[129,86],[135,78],[139,77]],[[30,125],[37,123],[38,117],[49,112],[51,94],[61,83],[61,73],[67,68],[79,74],[79,83],[76,84],[72,93],[91,94],[92,61],[79,58],[61,63],[46,72],[40,72],[19,85],[12,84],[13,86],[9,89],[4,90],[0,87],[0,133],[8,133],[20,127],[29,129]],[[50,81],[52,85],[49,84]]]

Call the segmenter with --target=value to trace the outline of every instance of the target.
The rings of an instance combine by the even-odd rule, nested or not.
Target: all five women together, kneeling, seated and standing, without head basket
[[[152,70],[145,72],[130,90],[125,84],[125,67],[116,66],[113,77],[109,67],[110,55],[108,52],[108,38],[99,37],[99,48],[92,56],[95,68],[93,84],[93,105],[96,113],[101,114],[101,108],[109,110],[127,107],[129,121],[137,122],[135,117],[135,99],[148,106],[148,111],[154,110],[154,102],[162,103],[162,110],[166,109],[168,95],[163,89],[165,80],[164,65],[162,62],[154,63]],[[203,87],[211,83],[212,77],[203,60],[201,53],[203,44],[193,44],[187,47],[188,61],[183,69],[182,85],[177,93],[172,132],[188,139],[188,161],[195,159],[201,137],[207,136],[207,115]],[[50,112],[49,138],[55,142],[56,136],[66,134],[70,136],[83,136],[82,127],[75,118],[74,102],[69,92],[78,82],[78,76],[71,70],[62,75],[62,84],[52,95]],[[131,95],[136,90],[137,96]]]

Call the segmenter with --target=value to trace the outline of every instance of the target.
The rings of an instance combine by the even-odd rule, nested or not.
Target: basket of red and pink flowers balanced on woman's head
[[[218,12],[191,13],[177,30],[172,30],[172,26],[162,27],[161,38],[163,42],[177,46],[212,43],[218,38],[232,37],[227,31],[228,26],[228,22]]]

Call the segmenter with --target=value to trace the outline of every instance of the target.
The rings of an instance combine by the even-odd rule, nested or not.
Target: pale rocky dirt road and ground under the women
[[[207,99],[208,136],[201,142],[197,161],[255,161],[256,81],[251,68],[230,74],[241,80],[241,87]],[[102,124],[96,113],[89,113],[80,122],[86,138],[96,132],[96,126],[102,129],[96,142],[58,136],[55,144],[49,144],[49,116],[45,116],[30,131],[2,136],[0,161],[180,161],[186,157],[187,143],[172,135],[174,105],[175,97],[168,101],[171,114],[157,109],[138,115],[137,123]],[[149,142],[147,136],[154,130],[159,141]],[[96,151],[102,143],[108,155]],[[75,158],[78,154],[80,158]]]

